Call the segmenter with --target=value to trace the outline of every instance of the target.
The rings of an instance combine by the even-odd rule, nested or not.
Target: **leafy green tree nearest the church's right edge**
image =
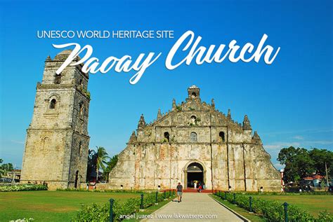
[[[311,159],[306,148],[282,148],[278,161],[285,165],[285,182],[299,181],[301,178],[315,172],[315,162]]]

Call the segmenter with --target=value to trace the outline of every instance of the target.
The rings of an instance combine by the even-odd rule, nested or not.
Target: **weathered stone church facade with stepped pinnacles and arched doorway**
[[[202,102],[200,88],[188,88],[188,98],[131,134],[110,172],[109,188],[185,188],[202,181],[207,189],[280,191],[280,173],[270,162],[249,118],[235,122],[230,115]]]

